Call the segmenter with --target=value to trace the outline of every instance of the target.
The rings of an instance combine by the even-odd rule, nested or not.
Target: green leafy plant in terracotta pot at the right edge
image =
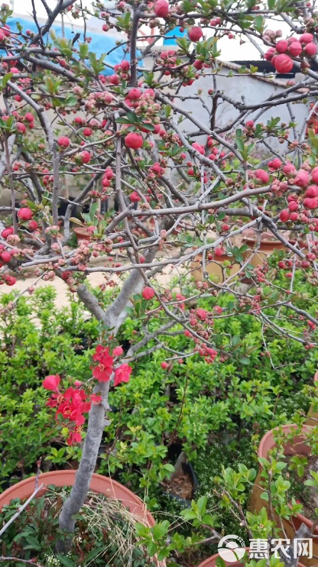
[[[310,425],[282,425],[268,431],[259,445],[260,472],[249,503],[250,510],[260,511],[268,502],[272,521],[290,538],[302,527],[308,536],[313,533],[313,555],[318,534],[314,510],[315,502],[318,507],[317,452],[317,435]],[[313,565],[315,560],[306,564]]]

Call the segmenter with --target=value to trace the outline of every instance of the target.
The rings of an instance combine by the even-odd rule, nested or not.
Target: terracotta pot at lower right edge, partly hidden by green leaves
[[[283,433],[290,433],[291,431],[295,430],[296,428],[297,428],[297,426],[295,424],[283,425],[282,426],[282,432]],[[277,429],[279,429],[279,428],[275,428],[275,429],[268,431],[264,435],[263,439],[261,439],[261,442],[260,442],[260,445],[259,445],[259,450],[258,450],[259,458],[263,457],[263,458],[267,459],[268,452],[270,451],[270,449],[272,449],[274,446],[276,446],[276,442],[275,442],[275,439],[274,439],[274,431],[277,430]],[[310,431],[311,429],[312,428],[311,428],[310,425],[303,425],[303,428],[302,428],[303,435],[302,434],[296,435],[293,438],[292,442],[286,443],[286,446],[284,448],[284,455],[308,455],[308,454],[310,454],[311,449],[308,445],[306,445],[306,442],[304,441],[304,434],[306,432]],[[260,472],[261,472],[261,467],[260,467]],[[263,508],[263,507],[267,508],[268,507],[268,503],[261,498],[261,494],[263,493],[263,489],[259,488],[260,472],[255,479],[255,484],[253,486],[250,502],[248,503],[248,509],[250,509],[252,512],[253,511],[259,512],[261,510],[261,508]],[[274,519],[276,519],[277,525],[280,526],[279,519],[276,515],[274,515]],[[290,539],[294,538],[295,532],[298,530],[298,528],[300,527],[300,525],[302,523],[306,524],[306,526],[308,528],[312,528],[312,526],[313,526],[313,522],[309,518],[304,517],[302,514],[297,514],[295,517],[291,518],[290,522],[287,522],[287,520],[283,519],[282,523],[283,523],[283,527],[285,529],[285,532],[287,534],[287,537],[290,538]],[[313,531],[313,534],[315,536],[318,536],[318,526]],[[313,549],[313,556],[315,556],[315,555],[317,556],[318,555],[318,540],[317,540],[317,537],[313,538],[312,549]],[[317,560],[314,557],[312,559],[308,559],[307,557],[302,557],[302,560],[304,562],[304,565],[307,565],[307,566],[313,566],[313,565],[317,564]]]

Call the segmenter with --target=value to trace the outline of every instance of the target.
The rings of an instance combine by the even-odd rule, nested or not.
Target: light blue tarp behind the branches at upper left
[[[27,20],[20,18],[19,16],[18,17],[13,16],[7,21],[7,24],[8,26],[10,26],[10,29],[14,32],[19,31],[18,28],[16,27],[16,22],[19,22],[20,26],[23,27],[24,33],[25,31],[27,31],[27,29],[31,29],[31,31],[35,33],[38,32],[36,24],[35,22],[33,22],[33,20]],[[42,24],[40,24],[40,26],[41,25]],[[63,36],[62,26],[53,25],[51,29],[53,29],[57,37]],[[73,39],[75,33],[81,33],[81,36],[78,41],[84,41],[84,30],[80,31],[79,28],[75,28],[73,31],[70,26],[64,27],[64,37],[66,37],[66,39],[68,40]],[[118,37],[111,36],[110,34],[108,35],[107,32],[96,33],[87,30],[86,35],[87,37],[92,38],[91,43],[89,43],[89,51],[96,53],[97,58],[99,58],[102,53],[108,53],[111,49],[114,49],[116,47],[116,41],[118,41]],[[127,58],[128,56],[127,53],[124,52],[123,46],[118,46],[105,58],[105,60],[109,65],[116,65]],[[113,75],[113,73],[114,71],[109,67],[105,67],[104,71],[102,71],[102,75]]]

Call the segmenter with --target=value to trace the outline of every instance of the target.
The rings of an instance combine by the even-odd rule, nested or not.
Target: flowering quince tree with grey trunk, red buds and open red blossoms
[[[10,205],[0,204],[0,284],[14,286],[31,272],[38,280],[62,278],[102,325],[92,391],[79,383],[60,390],[59,376],[44,380],[69,443],[80,441],[89,412],[75,485],[60,518],[61,527],[72,531],[96,466],[110,384],[127,382],[129,363],[164,348],[166,333],[183,332],[189,344],[186,353],[167,350],[161,363],[167,370],[188,356],[207,363],[237,356],[235,341],[226,337],[222,344],[213,321],[238,312],[306,349],[316,345],[318,320],[306,298],[301,308],[294,299],[298,270],[318,284],[318,138],[308,128],[317,107],[318,21],[312,2],[120,0],[113,12],[96,3],[94,14],[76,0],[61,0],[53,9],[42,3],[47,19],[40,26],[34,14],[36,33],[21,26],[12,31],[12,12],[7,5],[0,11],[0,179],[11,194]],[[97,58],[85,31],[80,40],[50,34],[64,12],[95,15],[102,31],[115,29],[124,60],[111,66],[108,53]],[[281,30],[272,31],[272,18]],[[160,47],[162,36],[176,27],[184,33],[178,50]],[[258,49],[273,73],[295,69],[299,81],[252,103],[230,98],[218,88],[224,74],[218,57],[220,44],[235,38]],[[240,71],[247,80],[256,73],[254,67]],[[196,88],[200,78],[210,83],[207,96]],[[184,100],[191,101],[192,112]],[[235,116],[221,125],[225,103]],[[299,124],[296,103],[308,105]],[[289,124],[280,119],[281,108],[287,108]],[[272,111],[267,124],[261,121],[265,110]],[[73,201],[65,197],[70,179],[76,184]],[[109,206],[105,213],[100,204],[113,199],[116,210]],[[72,223],[84,229],[77,244]],[[251,230],[248,253],[237,239]],[[281,249],[254,269],[263,232]],[[216,282],[207,268],[224,256],[239,266],[237,276],[224,270],[224,280]],[[193,293],[187,277],[198,257],[202,277]],[[177,291],[157,280],[171,266]],[[118,290],[106,309],[85,284],[94,272],[105,276],[100,293]],[[270,289],[277,273],[285,284]],[[244,278],[249,283],[238,287]],[[234,298],[227,308],[194,307],[201,294],[218,302],[224,293]],[[141,334],[124,354],[110,341],[128,313],[140,318]],[[241,360],[246,363],[246,356]]]

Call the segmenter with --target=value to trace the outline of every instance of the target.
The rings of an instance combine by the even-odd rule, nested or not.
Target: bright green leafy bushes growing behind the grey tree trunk
[[[109,302],[109,293],[95,293],[101,303]],[[76,466],[81,449],[66,446],[65,431],[52,427],[54,416],[45,407],[41,382],[45,375],[55,373],[66,383],[69,379],[87,380],[91,376],[91,345],[100,332],[98,323],[74,298],[67,308],[55,307],[51,287],[38,289],[28,298],[20,297],[11,311],[7,307],[13,299],[14,294],[1,297],[0,315],[4,486],[9,477],[12,483],[34,473],[41,457],[42,469]],[[221,304],[226,307],[230,301],[229,295]],[[215,302],[203,297],[197,300],[197,306],[212,310]],[[160,321],[154,318],[151,330],[158,325]],[[251,444],[251,432],[257,439],[272,426],[290,421],[296,410],[307,412],[318,359],[315,351],[308,352],[266,329],[264,345],[260,341],[261,324],[247,314],[216,318],[214,328],[223,342],[226,338],[235,346],[234,356],[224,362],[208,365],[193,354],[182,364],[174,363],[167,372],[161,362],[170,354],[162,348],[136,359],[133,379],[110,394],[113,412],[104,431],[98,472],[119,475],[141,494],[145,491],[149,500],[160,500],[156,486],[171,473],[169,447],[175,443],[194,460],[200,476],[200,456],[214,442],[220,445],[222,437],[231,446],[242,439]],[[167,346],[177,352],[191,352],[188,338],[174,330],[179,329],[173,328],[166,337]],[[128,348],[142,336],[142,321],[127,318],[118,341]],[[249,366],[241,362],[247,349]],[[211,459],[207,455],[207,463]],[[240,460],[244,462],[243,456]],[[216,462],[223,463],[224,459]]]

